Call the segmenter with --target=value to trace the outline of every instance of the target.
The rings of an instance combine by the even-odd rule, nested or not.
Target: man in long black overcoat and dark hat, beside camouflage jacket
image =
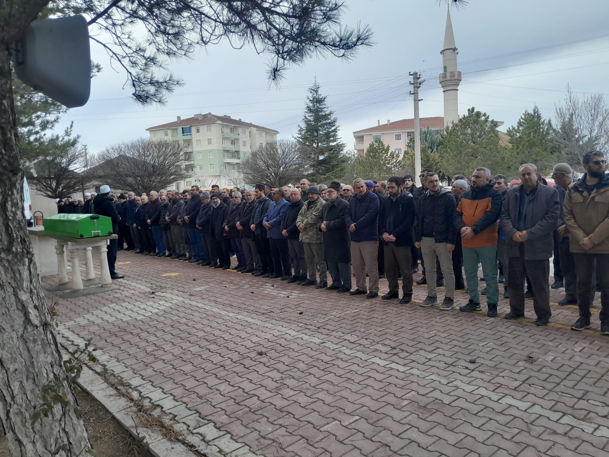
[[[340,196],[340,183],[328,186],[328,201],[319,213],[319,230],[323,232],[323,258],[332,277],[328,291],[344,294],[351,291],[351,238],[345,224],[349,204]]]

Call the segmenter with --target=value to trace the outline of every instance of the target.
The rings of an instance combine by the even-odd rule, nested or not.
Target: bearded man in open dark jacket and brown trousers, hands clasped
[[[379,211],[379,235],[385,252],[385,274],[389,282],[389,292],[383,300],[399,297],[398,266],[402,272],[402,299],[400,303],[412,300],[412,258],[410,248],[412,227],[415,223],[415,199],[404,190],[404,179],[392,176],[387,180],[389,196],[381,201]]]

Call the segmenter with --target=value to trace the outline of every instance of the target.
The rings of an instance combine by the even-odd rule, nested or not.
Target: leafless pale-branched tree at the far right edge
[[[607,151],[609,146],[609,107],[602,94],[580,99],[567,87],[563,104],[555,106],[554,136],[559,159],[583,171],[582,157],[593,149]],[[558,161],[558,160],[557,160]]]

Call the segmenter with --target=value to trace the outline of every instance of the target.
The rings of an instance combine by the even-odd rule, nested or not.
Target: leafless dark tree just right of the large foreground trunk
[[[88,184],[85,161],[86,150],[71,147],[33,163],[33,170],[26,170],[27,182],[45,197],[63,199],[82,191]]]

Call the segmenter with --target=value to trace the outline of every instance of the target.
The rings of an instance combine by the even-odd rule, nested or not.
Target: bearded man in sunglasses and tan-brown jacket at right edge
[[[591,151],[583,156],[586,173],[569,186],[565,196],[565,225],[577,274],[579,319],[572,330],[590,328],[590,280],[596,260],[596,280],[600,284],[600,333],[609,335],[609,180],[605,175],[604,153]]]

